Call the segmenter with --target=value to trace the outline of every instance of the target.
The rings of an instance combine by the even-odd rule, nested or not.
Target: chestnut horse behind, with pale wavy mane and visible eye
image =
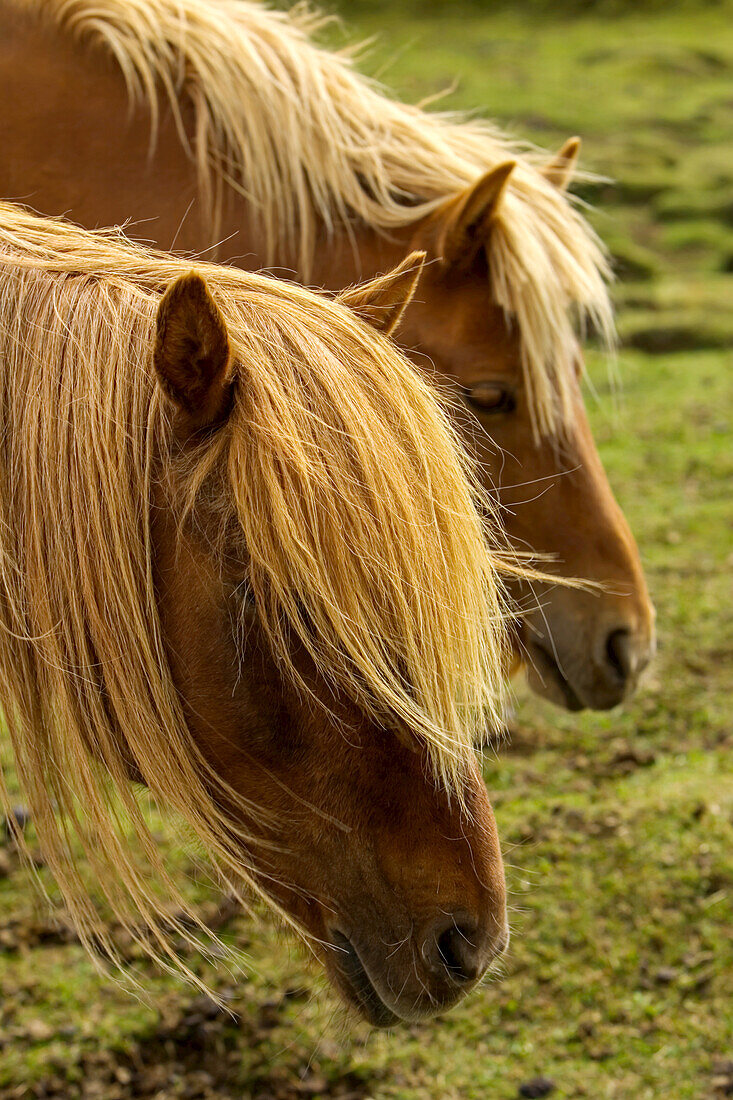
[[[627,697],[654,651],[638,550],[595,449],[577,333],[611,342],[609,268],[545,162],[490,124],[390,99],[318,18],[248,0],[0,0],[0,194],[337,290],[411,249],[398,341],[457,422],[515,547],[590,587],[513,582],[514,666],[570,710]],[[39,79],[43,73],[43,79]],[[549,563],[549,564],[548,564]]]

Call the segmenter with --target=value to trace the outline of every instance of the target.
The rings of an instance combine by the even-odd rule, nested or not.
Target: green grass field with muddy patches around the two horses
[[[3,1100],[513,1100],[538,1076],[553,1098],[733,1096],[733,13],[433,10],[342,4],[357,37],[379,35],[363,67],[401,95],[457,78],[449,106],[553,147],[579,133],[617,180],[583,189],[623,339],[621,395],[591,354],[589,404],[648,570],[655,667],[622,713],[519,693],[512,745],[485,759],[512,948],[435,1023],[354,1026],[302,948],[244,917],[225,928],[245,980],[192,960],[236,1019],[142,963],[135,1000],[0,849]]]

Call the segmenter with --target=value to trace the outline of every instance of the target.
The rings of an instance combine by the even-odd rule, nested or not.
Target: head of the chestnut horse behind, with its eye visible
[[[460,419],[512,543],[543,570],[592,582],[513,585],[517,663],[553,702],[603,710],[648,663],[654,609],[581,393],[573,301],[584,299],[601,327],[610,317],[600,253],[589,265],[588,230],[577,235],[580,220],[561,195],[578,145],[564,146],[544,175],[507,161],[411,228],[428,262],[400,341],[457,384]],[[543,218],[527,226],[530,201],[544,204]]]

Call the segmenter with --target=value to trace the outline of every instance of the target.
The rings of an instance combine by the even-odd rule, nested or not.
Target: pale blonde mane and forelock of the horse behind
[[[267,264],[307,280],[321,227],[383,233],[411,226],[485,172],[516,158],[486,244],[491,294],[517,326],[535,426],[571,417],[578,338],[590,324],[610,345],[609,266],[538,155],[484,121],[396,102],[352,67],[353,51],[319,48],[322,22],[303,4],[285,14],[250,0],[12,0],[37,10],[120,65],[153,130],[160,96],[198,166],[212,240],[222,189],[251,204]],[[186,136],[180,102],[195,111]]]

